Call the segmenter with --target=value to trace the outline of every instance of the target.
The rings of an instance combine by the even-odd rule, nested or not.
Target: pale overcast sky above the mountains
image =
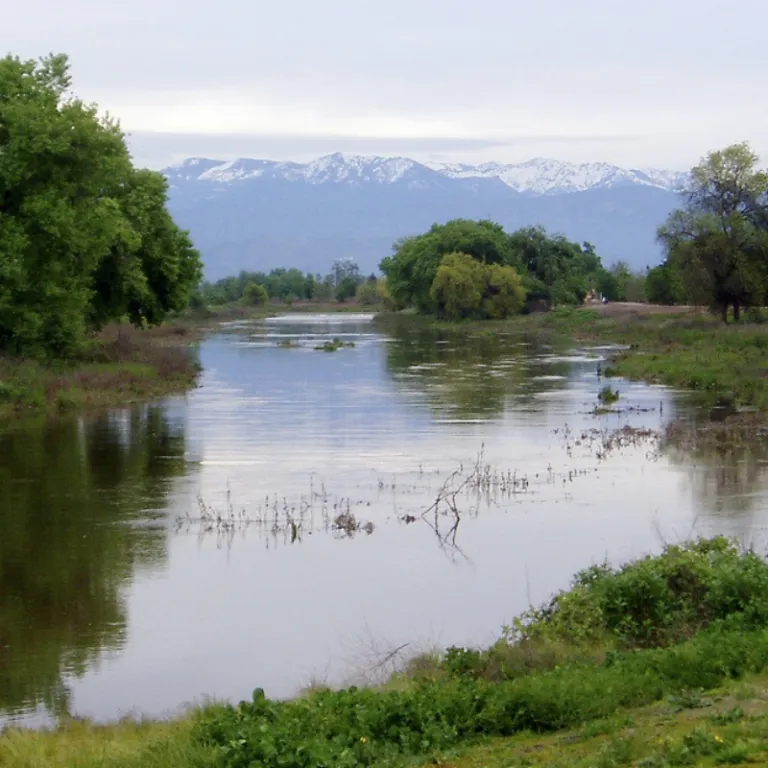
[[[136,161],[768,159],[768,0],[2,0]]]

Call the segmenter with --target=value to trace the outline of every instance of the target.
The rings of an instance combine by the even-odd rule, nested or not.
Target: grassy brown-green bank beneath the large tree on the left
[[[150,331],[109,326],[74,359],[0,358],[0,421],[183,392],[199,373],[187,349],[192,339],[186,323]]]

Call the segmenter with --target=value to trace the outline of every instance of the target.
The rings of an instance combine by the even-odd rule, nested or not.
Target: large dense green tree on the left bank
[[[163,176],[70,86],[64,55],[0,59],[0,351],[64,355],[109,320],[159,323],[200,280]]]

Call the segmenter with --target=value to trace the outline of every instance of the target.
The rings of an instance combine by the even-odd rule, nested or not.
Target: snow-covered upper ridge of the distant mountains
[[[444,179],[497,179],[524,195],[561,195],[591,189],[644,186],[678,190],[686,174],[656,168],[625,169],[608,163],[570,163],[534,158],[524,163],[418,163],[406,157],[363,157],[335,153],[308,163],[191,158],[164,170],[171,188],[202,182],[214,187],[249,180],[305,184],[403,185],[426,189]]]

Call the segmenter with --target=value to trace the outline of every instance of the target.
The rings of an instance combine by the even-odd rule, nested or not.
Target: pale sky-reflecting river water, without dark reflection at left
[[[314,350],[333,337],[356,345]],[[285,338],[300,346],[279,347]],[[608,352],[537,351],[511,338],[462,350],[450,339],[384,338],[345,315],[240,324],[204,342],[202,386],[167,403],[185,422],[190,461],[170,516],[194,515],[198,494],[252,514],[267,496],[298,507],[324,486],[331,511],[344,497],[375,532],[340,540],[308,524],[290,545],[251,528],[228,547],[194,526],[169,534],[166,568],[126,584],[123,649],[73,683],[75,710],[159,714],[256,686],[288,696],[312,677],[342,679],[368,635],[393,646],[488,642],[590,563],[691,535],[710,487],[692,472],[706,468],[658,458],[647,442],[601,461],[582,440],[627,423],[658,429],[676,414],[672,393],[620,381],[619,405],[636,410],[594,416]],[[476,514],[457,532],[466,557],[455,556],[421,520],[398,518],[418,516],[481,449],[484,463],[529,486],[463,498]],[[746,519],[729,504],[721,494],[708,532],[733,533]],[[764,495],[750,526],[761,507]]]

